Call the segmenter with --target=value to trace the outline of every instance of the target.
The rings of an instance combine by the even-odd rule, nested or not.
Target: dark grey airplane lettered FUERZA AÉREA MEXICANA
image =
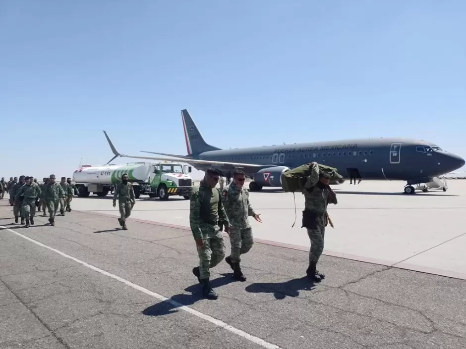
[[[181,110],[187,155],[143,151],[175,159],[205,171],[216,167],[223,173],[241,169],[252,181],[250,191],[282,187],[281,175],[288,169],[316,161],[337,168],[343,178],[406,181],[404,192],[414,194],[413,185],[433,182],[434,177],[465,165],[465,160],[434,143],[409,138],[365,138],[326,142],[273,145],[222,150],[204,141],[186,109]],[[119,153],[103,131],[116,157],[167,160],[166,157]],[[344,180],[332,183],[342,184]]]

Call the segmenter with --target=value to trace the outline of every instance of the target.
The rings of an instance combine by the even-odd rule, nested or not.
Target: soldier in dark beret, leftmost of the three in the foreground
[[[209,168],[199,186],[193,188],[190,198],[189,224],[199,255],[199,266],[194,267],[192,273],[202,285],[202,294],[208,299],[219,297],[210,286],[210,269],[225,257],[225,243],[219,223],[225,226],[227,233],[230,226],[220,190],[216,187],[220,175],[219,170]]]

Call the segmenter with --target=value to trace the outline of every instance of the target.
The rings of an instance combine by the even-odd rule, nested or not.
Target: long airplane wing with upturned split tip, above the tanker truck
[[[209,167],[216,167],[219,170],[229,170],[232,167],[242,169],[244,172],[248,174],[253,174],[259,171],[262,168],[268,168],[268,167],[275,167],[276,165],[256,165],[256,164],[248,164],[248,163],[239,163],[239,162],[224,162],[224,161],[211,161],[211,160],[195,160],[195,159],[190,159],[190,158],[175,158],[175,159],[169,159],[166,157],[158,157],[158,156],[140,156],[140,155],[126,155],[126,154],[121,154],[120,152],[117,151],[115,146],[113,145],[112,141],[110,140],[110,137],[107,135],[107,132],[104,131],[105,137],[107,138],[107,142],[109,142],[109,146],[112,149],[112,152],[115,154],[112,159],[110,159],[109,162],[112,162],[115,158],[117,157],[130,157],[130,158],[135,158],[135,159],[148,159],[148,160],[158,160],[158,161],[180,161],[180,162],[185,162],[188,164],[192,164],[196,169],[199,170],[206,170]],[[156,153],[157,154],[157,153]],[[159,153],[160,154],[160,153]]]

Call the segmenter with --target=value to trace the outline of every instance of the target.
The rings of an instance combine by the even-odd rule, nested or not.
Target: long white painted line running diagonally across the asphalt
[[[0,226],[0,228],[3,228],[3,229],[5,229],[5,230],[7,230],[7,231],[9,231],[9,232],[11,232],[13,234],[16,234],[16,235],[20,236],[21,238],[26,239],[26,240],[28,240],[28,241],[36,244],[36,245],[39,245],[41,247],[45,247],[46,249],[50,249],[51,251],[57,252],[58,254],[62,255],[65,258],[69,258],[71,260],[74,260],[75,262],[77,262],[79,264],[82,264],[85,267],[88,267],[89,269],[97,271],[98,273],[101,273],[101,274],[103,274],[105,276],[111,277],[112,279],[118,280],[119,282],[122,282],[123,284],[128,285],[129,287],[132,287],[133,289],[141,291],[141,292],[145,293],[146,295],[152,296],[152,297],[154,297],[156,299],[159,299],[161,301],[167,301],[168,303],[176,306],[177,308],[179,308],[181,310],[184,310],[184,311],[186,311],[186,312],[188,312],[188,313],[190,313],[190,314],[192,314],[194,316],[197,316],[197,317],[199,317],[201,319],[207,320],[207,321],[213,323],[216,326],[224,328],[227,331],[233,332],[235,335],[238,335],[238,336],[240,336],[242,338],[245,338],[245,339],[247,339],[248,341],[250,341],[252,343],[260,345],[261,347],[264,347],[264,348],[267,348],[267,349],[283,349],[283,348],[280,348],[280,347],[276,346],[275,344],[268,343],[268,342],[266,342],[266,341],[264,341],[264,340],[262,340],[262,339],[260,339],[258,337],[254,337],[254,336],[250,335],[249,333],[241,331],[241,330],[239,330],[239,329],[237,329],[237,328],[235,328],[233,326],[230,326],[229,324],[227,324],[227,323],[225,323],[225,322],[223,322],[221,320],[218,320],[218,319],[216,319],[216,318],[214,318],[212,316],[206,315],[204,313],[201,313],[200,311],[194,310],[194,309],[192,309],[192,308],[190,308],[190,307],[188,307],[186,305],[178,303],[173,299],[169,299],[167,297],[159,295],[158,293],[152,292],[152,291],[150,291],[150,290],[148,290],[148,289],[146,289],[146,288],[144,288],[142,286],[133,284],[131,281],[120,278],[117,275],[109,273],[109,272],[107,272],[105,270],[102,270],[100,268],[97,268],[97,267],[95,267],[95,266],[93,266],[93,265],[91,265],[89,263],[83,262],[82,260],[79,260],[79,259],[77,259],[75,257],[72,257],[72,256],[70,256],[70,255],[68,255],[66,253],[63,253],[63,252],[59,251],[58,249],[54,249],[54,248],[52,248],[50,246],[44,245],[44,244],[42,244],[42,243],[40,243],[40,242],[38,242],[38,241],[36,241],[34,239],[31,239],[31,238],[29,238],[29,237],[27,237],[27,236],[25,236],[23,234],[15,232],[14,230],[11,230],[11,229],[9,229],[7,227]]]

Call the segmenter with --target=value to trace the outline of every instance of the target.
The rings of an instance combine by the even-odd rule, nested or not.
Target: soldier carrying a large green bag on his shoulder
[[[302,227],[307,229],[307,235],[311,241],[309,250],[309,267],[307,276],[314,282],[321,282],[325,275],[317,269],[317,262],[324,250],[325,226],[328,223],[327,205],[336,204],[335,192],[329,186],[330,174],[320,172],[319,165],[312,162],[311,174],[307,177],[303,188],[305,198],[304,211],[302,212]]]

